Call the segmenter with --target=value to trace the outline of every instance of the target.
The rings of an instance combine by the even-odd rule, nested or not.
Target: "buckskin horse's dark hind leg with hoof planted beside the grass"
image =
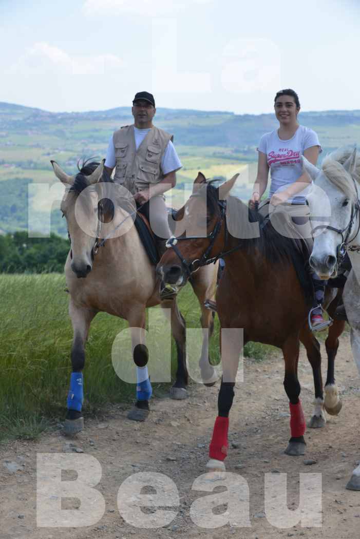
[[[189,383],[189,372],[186,366],[186,323],[183,315],[179,311],[176,299],[162,301],[161,306],[166,309],[167,314],[170,309],[171,333],[175,339],[177,350],[177,369],[175,382],[170,388],[170,397],[182,400],[188,397],[186,386]]]

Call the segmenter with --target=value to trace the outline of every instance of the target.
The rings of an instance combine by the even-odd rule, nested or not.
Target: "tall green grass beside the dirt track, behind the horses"
[[[0,275],[0,439],[36,436],[64,418],[71,372],[73,331],[62,274]],[[199,328],[200,309],[190,286],[179,294],[187,327]],[[135,385],[122,382],[111,359],[112,345],[127,322],[99,313],[92,322],[84,369],[85,413],[105,403],[129,402]],[[161,331],[161,328],[159,329]],[[210,356],[219,362],[216,318]],[[269,348],[249,343],[245,355],[262,358]],[[176,348],[172,343],[172,374]],[[155,393],[163,384],[154,384]],[[166,387],[166,385],[165,385]]]

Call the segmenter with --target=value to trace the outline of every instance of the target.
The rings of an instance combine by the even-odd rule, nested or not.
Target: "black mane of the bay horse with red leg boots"
[[[207,209],[211,216],[220,216],[219,208],[219,188],[214,185],[214,180],[202,182],[206,185]],[[247,208],[239,198],[234,196],[227,197],[227,209],[231,206],[231,212],[239,215],[237,230],[242,230],[247,223],[259,223],[260,236],[256,238],[237,238],[248,254],[258,250],[268,262],[276,263],[287,260],[293,260],[294,248],[297,252],[301,251],[300,241],[288,238],[274,229],[271,222],[264,226],[264,217],[251,208]],[[235,210],[235,211],[234,211]],[[236,215],[234,215],[236,217]]]

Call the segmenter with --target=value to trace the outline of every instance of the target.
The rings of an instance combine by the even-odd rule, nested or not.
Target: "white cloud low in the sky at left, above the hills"
[[[102,75],[114,73],[124,66],[123,60],[114,54],[93,56],[70,56],[67,52],[49,45],[34,43],[12,66],[9,74],[72,74]]]

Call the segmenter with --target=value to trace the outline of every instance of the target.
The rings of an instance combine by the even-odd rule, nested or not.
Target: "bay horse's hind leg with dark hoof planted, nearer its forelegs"
[[[321,375],[321,354],[320,354],[320,344],[316,340],[315,336],[309,328],[306,326],[303,328],[300,334],[300,341],[303,343],[306,348],[306,353],[308,356],[311,369],[313,369],[314,377],[314,389],[315,389],[315,400],[314,400],[314,413],[311,416],[311,419],[308,422],[308,427],[311,429],[319,429],[326,424],[326,417],[324,414],[324,395],[322,388],[322,375]]]

